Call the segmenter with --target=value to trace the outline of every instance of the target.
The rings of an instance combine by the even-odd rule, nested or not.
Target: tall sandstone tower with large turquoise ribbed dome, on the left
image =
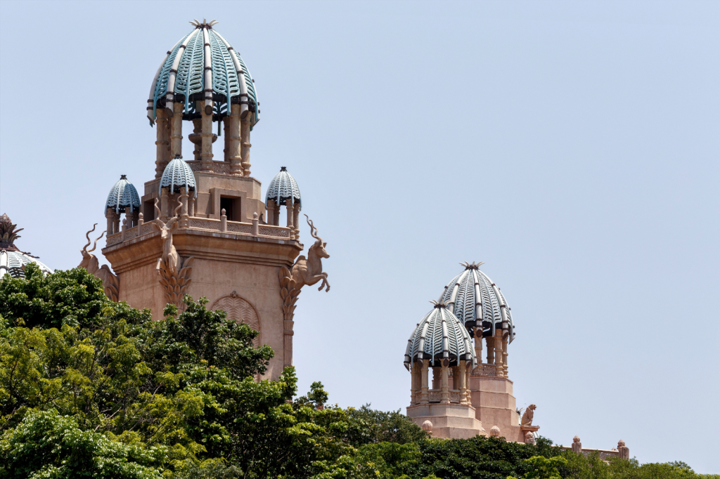
[[[279,226],[276,215],[263,221],[261,183],[250,171],[250,132],[260,114],[253,79],[213,29],[214,20],[191,23],[194,29],[168,50],[150,87],[155,178],[138,201],[125,177],[113,187],[102,252],[119,277],[120,301],[150,308],[160,319],[166,303],[182,307],[184,293],[206,296],[210,309],[224,309],[260,332],[259,344],[275,351],[266,377],[277,378],[292,365],[293,323],[286,320],[292,314],[283,309],[279,273],[292,268],[302,250],[294,221],[300,192],[292,180],[297,198],[289,196],[287,226]],[[184,122],[195,145],[185,154]]]

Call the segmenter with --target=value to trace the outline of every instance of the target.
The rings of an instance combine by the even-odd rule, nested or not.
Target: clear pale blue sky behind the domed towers
[[[22,249],[76,266],[120,174],[153,178],[150,83],[202,17],[256,79],[253,175],[287,166],[328,242],[301,392],[404,410],[410,332],[485,261],[541,434],[720,472],[720,2],[2,1]]]

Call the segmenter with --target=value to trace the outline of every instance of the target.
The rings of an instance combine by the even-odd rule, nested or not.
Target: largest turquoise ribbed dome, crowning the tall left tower
[[[148,97],[148,119],[153,124],[156,109],[173,109],[173,102],[184,103],[184,119],[197,117],[195,101],[207,100],[206,88],[212,88],[215,115],[228,114],[228,96],[240,104],[240,116],[251,114],[251,127],[258,122],[258,99],[250,72],[232,45],[213,29],[212,22],[190,22],[195,29],[181,38],[163,58]],[[207,93],[210,93],[208,91]],[[190,101],[186,101],[190,99]],[[209,113],[209,111],[208,111]]]

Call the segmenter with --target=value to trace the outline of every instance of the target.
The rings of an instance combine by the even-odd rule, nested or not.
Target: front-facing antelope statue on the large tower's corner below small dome
[[[178,217],[173,216],[167,222],[159,219],[161,211],[158,208],[158,199],[155,199],[155,209],[158,219],[154,220],[152,224],[160,232],[160,237],[163,240],[163,255],[158,258],[156,270],[160,275],[160,284],[165,289],[165,297],[168,302],[179,309],[183,309],[182,298],[192,281],[190,275],[192,273],[192,262],[195,258],[192,256],[180,257],[173,246],[173,233],[179,228]]]

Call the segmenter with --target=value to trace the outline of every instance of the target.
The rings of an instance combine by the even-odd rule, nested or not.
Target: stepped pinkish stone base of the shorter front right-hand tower
[[[482,423],[477,420],[476,411],[472,406],[459,404],[417,404],[408,406],[408,416],[418,426],[425,421],[433,424],[433,437],[443,439],[469,439],[482,432]]]

